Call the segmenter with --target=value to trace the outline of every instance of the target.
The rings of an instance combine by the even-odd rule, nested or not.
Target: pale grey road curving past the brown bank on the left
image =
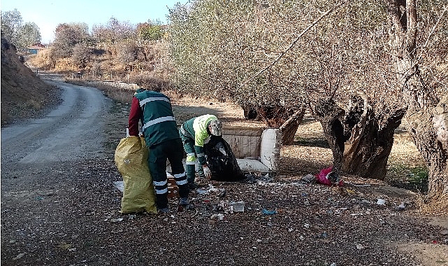
[[[1,163],[22,167],[89,158],[101,152],[110,100],[91,87],[55,83],[63,102],[48,116],[1,129]]]

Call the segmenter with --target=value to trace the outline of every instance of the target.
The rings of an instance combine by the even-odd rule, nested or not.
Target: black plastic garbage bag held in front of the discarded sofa
[[[245,178],[230,145],[222,137],[212,136],[204,145],[204,153],[212,172],[211,180],[233,182]]]

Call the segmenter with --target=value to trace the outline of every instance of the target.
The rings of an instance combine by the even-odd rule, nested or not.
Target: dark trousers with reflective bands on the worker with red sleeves
[[[152,176],[152,183],[156,191],[157,208],[168,207],[168,182],[166,178],[166,159],[170,162],[172,174],[179,188],[180,197],[188,197],[187,176],[182,164],[183,151],[180,139],[163,141],[150,147],[148,165]]]

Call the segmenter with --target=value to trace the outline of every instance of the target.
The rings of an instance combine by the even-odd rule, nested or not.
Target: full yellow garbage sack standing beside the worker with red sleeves
[[[115,165],[123,176],[123,214],[147,211],[157,214],[156,195],[150,169],[147,166],[149,151],[143,137],[126,137],[115,150]]]

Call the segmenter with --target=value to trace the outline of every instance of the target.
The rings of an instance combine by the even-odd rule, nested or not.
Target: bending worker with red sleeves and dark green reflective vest
[[[168,182],[166,160],[171,164],[173,176],[179,188],[182,207],[189,204],[187,176],[182,164],[183,148],[175,122],[170,99],[160,92],[137,90],[132,98],[129,113],[129,135],[138,136],[138,121],[142,121],[141,132],[150,149],[148,166],[156,192],[157,209],[168,213]]]

